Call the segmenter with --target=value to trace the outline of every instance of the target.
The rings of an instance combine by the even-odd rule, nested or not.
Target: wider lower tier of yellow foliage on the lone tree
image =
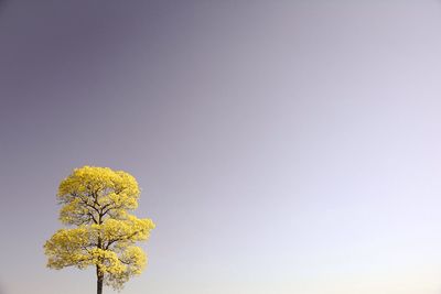
[[[146,266],[146,254],[135,242],[147,240],[153,228],[151,219],[129,215],[126,220],[106,219],[101,225],[60,229],[44,246],[47,266],[97,265],[105,282],[118,288]]]

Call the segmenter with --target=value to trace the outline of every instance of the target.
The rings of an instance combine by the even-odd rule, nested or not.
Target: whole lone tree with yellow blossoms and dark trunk
[[[136,178],[126,172],[75,168],[57,193],[60,220],[72,228],[57,230],[44,244],[47,266],[95,266],[98,294],[103,284],[120,290],[140,274],[147,257],[135,243],[147,240],[155,225],[129,214],[138,207],[139,195]]]

